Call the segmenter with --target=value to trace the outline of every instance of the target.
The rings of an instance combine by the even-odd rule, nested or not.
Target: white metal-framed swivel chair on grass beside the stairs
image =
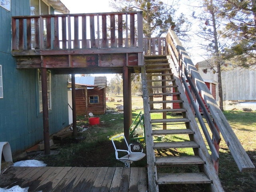
[[[121,137],[124,138],[127,150],[126,149],[117,149],[116,148],[116,144],[114,143],[114,140],[116,138],[121,138]],[[132,164],[132,162],[141,160],[142,158],[144,158],[144,156],[146,156],[146,154],[143,153],[143,149],[141,149],[140,152],[134,152],[134,149],[137,150],[140,147],[138,147],[138,146],[136,146],[134,144],[128,145],[128,143],[126,141],[126,138],[124,137],[123,134],[115,136],[111,140],[112,140],[113,146],[115,148],[116,159],[121,161],[121,162],[123,162],[126,167],[130,167],[130,164]],[[122,157],[119,157],[121,153],[125,154],[125,155],[122,156]]]

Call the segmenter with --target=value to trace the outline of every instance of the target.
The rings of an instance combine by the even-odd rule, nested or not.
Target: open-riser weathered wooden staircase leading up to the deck
[[[161,184],[205,184],[207,191],[224,191],[184,88],[168,59],[144,56],[144,63],[142,88],[149,191],[159,191]],[[180,108],[172,108],[174,103]]]

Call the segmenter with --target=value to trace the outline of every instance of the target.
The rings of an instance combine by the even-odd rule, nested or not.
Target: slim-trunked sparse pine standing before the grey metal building
[[[209,69],[214,70],[218,75],[218,95],[219,106],[223,111],[223,94],[222,94],[222,82],[221,82],[221,67],[222,58],[220,56],[222,48],[225,44],[222,44],[222,31],[221,31],[221,18],[219,10],[221,10],[220,4],[217,0],[202,0],[202,12],[193,12],[192,16],[201,22],[200,31],[196,33],[198,37],[202,39],[201,47],[206,50],[209,60]],[[204,69],[207,73],[208,69]]]

